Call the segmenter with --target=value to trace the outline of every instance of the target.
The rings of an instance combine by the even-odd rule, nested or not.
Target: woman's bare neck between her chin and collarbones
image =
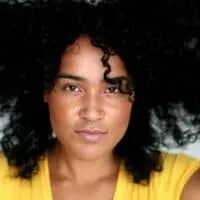
[[[74,184],[116,177],[119,165],[119,160],[112,153],[103,158],[88,161],[74,158],[59,144],[56,144],[49,152],[50,176]]]

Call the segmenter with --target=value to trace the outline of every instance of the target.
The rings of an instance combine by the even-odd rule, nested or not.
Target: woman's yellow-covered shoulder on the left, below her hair
[[[45,162],[44,162],[45,161]],[[16,168],[8,164],[7,158],[0,153],[0,199],[22,200],[35,196],[40,199],[43,190],[47,191],[48,180],[47,160],[41,160],[39,167],[41,170],[31,179],[16,177]]]

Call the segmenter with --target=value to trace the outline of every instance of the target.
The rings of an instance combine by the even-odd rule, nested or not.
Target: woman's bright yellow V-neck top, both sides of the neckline
[[[181,191],[189,177],[200,167],[200,161],[184,154],[163,153],[164,170],[154,172],[150,184],[135,184],[121,166],[114,200],[180,200]],[[52,200],[48,159],[40,163],[40,171],[32,180],[13,178],[13,170],[0,154],[0,199]]]

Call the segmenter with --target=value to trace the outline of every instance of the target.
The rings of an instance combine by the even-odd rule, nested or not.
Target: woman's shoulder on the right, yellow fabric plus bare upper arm
[[[162,199],[162,200],[197,200],[187,199],[190,190],[198,192],[197,173],[200,161],[182,153],[161,153],[163,170],[152,172],[148,185],[136,184],[125,166],[121,168],[117,185],[118,199]],[[167,192],[166,192],[167,191]],[[126,194],[127,198],[124,198]],[[165,195],[163,195],[165,194]],[[181,199],[181,197],[184,197]]]

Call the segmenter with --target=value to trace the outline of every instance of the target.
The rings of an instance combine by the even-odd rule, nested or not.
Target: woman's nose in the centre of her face
[[[79,114],[86,121],[96,122],[103,119],[105,112],[100,95],[96,92],[85,94]]]

